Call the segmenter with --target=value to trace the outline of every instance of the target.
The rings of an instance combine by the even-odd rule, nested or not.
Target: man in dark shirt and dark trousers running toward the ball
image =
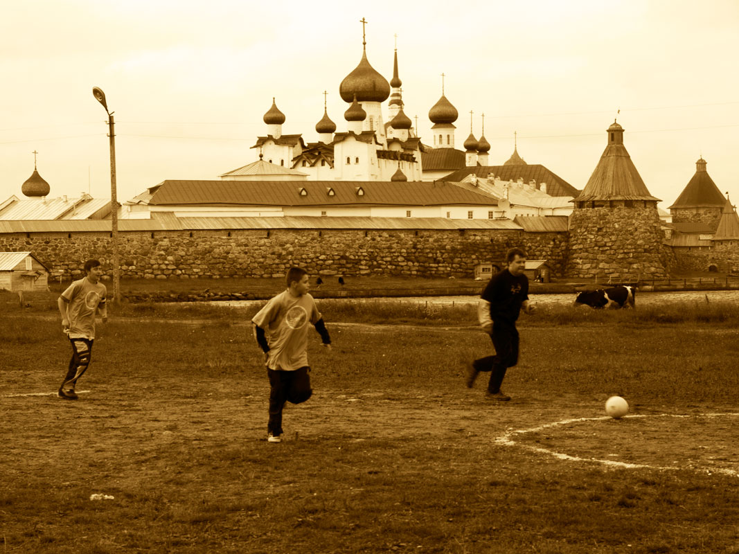
[[[468,387],[474,385],[478,373],[490,372],[486,397],[491,400],[511,400],[500,390],[500,384],[503,383],[505,371],[518,362],[516,320],[521,309],[528,315],[536,310],[529,304],[528,278],[523,273],[526,253],[520,248],[512,248],[505,259],[508,267],[492,276],[477,306],[477,317],[483,330],[493,340],[495,355],[474,360],[466,372]]]

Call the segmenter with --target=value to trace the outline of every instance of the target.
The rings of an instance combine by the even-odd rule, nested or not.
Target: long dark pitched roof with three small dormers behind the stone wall
[[[364,190],[358,195],[358,188]],[[327,191],[333,190],[329,195]],[[305,194],[301,194],[304,191]],[[470,185],[386,181],[178,181],[149,188],[151,205],[497,205]],[[143,196],[139,195],[139,196]]]

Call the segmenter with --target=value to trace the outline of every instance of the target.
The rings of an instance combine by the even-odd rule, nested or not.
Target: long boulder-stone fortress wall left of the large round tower
[[[292,265],[346,276],[471,277],[501,263],[511,247],[545,259],[562,276],[567,233],[520,230],[193,230],[119,232],[121,277],[284,276]],[[63,278],[82,275],[89,258],[112,274],[110,233],[0,234],[0,251],[32,251]]]

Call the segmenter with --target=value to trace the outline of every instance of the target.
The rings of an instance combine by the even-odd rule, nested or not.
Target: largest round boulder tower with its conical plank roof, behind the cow
[[[670,254],[652,196],[624,147],[615,121],[582,193],[573,199],[567,273],[580,278],[636,281],[667,276]]]

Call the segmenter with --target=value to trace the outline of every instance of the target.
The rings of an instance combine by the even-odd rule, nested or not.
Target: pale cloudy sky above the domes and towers
[[[338,87],[361,59],[362,18],[388,81],[397,41],[403,111],[426,144],[444,73],[457,148],[484,113],[490,165],[516,133],[527,163],[582,189],[617,119],[661,208],[701,156],[739,200],[737,0],[35,0],[0,5],[0,202],[23,197],[33,151],[50,196],[110,198],[93,86],[115,112],[119,202],[258,159],[273,97],[284,134],[318,140],[324,90],[346,131]]]

